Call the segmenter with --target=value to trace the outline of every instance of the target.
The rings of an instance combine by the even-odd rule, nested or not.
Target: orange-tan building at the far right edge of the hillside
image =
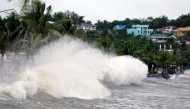
[[[177,37],[181,37],[185,35],[188,31],[190,32],[190,26],[178,28],[173,31],[173,34]]]

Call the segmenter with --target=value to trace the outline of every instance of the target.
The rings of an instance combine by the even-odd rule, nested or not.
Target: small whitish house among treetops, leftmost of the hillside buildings
[[[77,29],[83,29],[84,31],[96,30],[96,26],[92,24],[81,23],[77,26]]]

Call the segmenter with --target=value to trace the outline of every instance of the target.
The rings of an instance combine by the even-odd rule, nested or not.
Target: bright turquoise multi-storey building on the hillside
[[[132,25],[132,28],[127,29],[127,34],[149,36],[153,32],[153,29],[149,29],[148,27],[149,25]]]

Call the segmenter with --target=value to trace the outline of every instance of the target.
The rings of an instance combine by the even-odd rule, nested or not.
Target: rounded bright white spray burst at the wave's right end
[[[147,74],[147,66],[131,56],[118,56],[105,63],[105,80],[116,85],[139,84]]]

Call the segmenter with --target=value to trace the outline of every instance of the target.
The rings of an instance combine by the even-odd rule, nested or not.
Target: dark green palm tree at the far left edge
[[[2,58],[6,49],[20,39],[24,27],[16,13],[12,12],[7,18],[0,18],[0,48]]]

